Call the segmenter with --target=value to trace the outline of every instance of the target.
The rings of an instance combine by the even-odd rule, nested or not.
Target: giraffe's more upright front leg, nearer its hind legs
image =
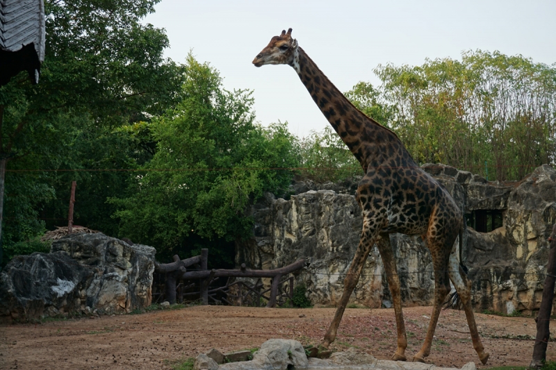
[[[395,312],[395,326],[398,331],[398,349],[396,349],[392,360],[405,361],[405,348],[407,348],[407,334],[405,332],[404,315],[402,312],[402,296],[400,294],[400,276],[395,264],[394,253],[390,244],[390,235],[381,235],[377,241],[378,250],[382,263],[384,264],[384,272],[386,272],[386,280],[392,294],[392,304]]]

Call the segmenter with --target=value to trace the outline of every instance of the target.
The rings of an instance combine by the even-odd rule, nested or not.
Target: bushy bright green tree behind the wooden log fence
[[[282,168],[297,167],[295,138],[286,124],[254,124],[251,92],[224,90],[218,72],[192,55],[185,76],[183,100],[149,126],[154,157],[111,202],[120,235],[156,246],[161,258],[208,247],[211,261],[229,264],[229,243],[252,235],[245,206],[288,187],[293,173]]]

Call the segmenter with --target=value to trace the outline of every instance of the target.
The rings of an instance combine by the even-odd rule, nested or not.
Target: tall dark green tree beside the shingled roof
[[[93,179],[59,170],[128,168],[129,158],[105,151],[123,140],[115,128],[148,121],[181,99],[183,71],[163,58],[168,46],[164,31],[140,22],[157,2],[45,1],[40,83],[30,85],[22,73],[0,87],[0,158],[7,162],[4,245],[41,233],[41,213],[42,218],[67,217],[71,180],[80,181],[82,200],[101,197],[90,203],[102,204],[102,197],[117,194],[114,187],[106,190],[106,183],[120,186],[128,175]],[[133,137],[124,141],[136,142]],[[83,180],[87,177],[89,183]],[[95,194],[102,182],[104,194]]]

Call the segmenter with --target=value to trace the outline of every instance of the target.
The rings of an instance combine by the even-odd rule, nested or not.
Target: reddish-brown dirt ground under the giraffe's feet
[[[430,312],[429,307],[404,308],[408,360],[425,337]],[[334,308],[193,306],[0,326],[0,369],[172,369],[177,361],[211,348],[238,351],[259,347],[270,338],[318,344],[333,315]],[[486,367],[528,366],[537,330],[532,317],[475,317],[491,353]],[[393,310],[347,309],[338,334],[332,349],[354,346],[387,360],[396,342]],[[556,360],[554,342],[548,344],[547,360]],[[440,367],[473,361],[484,368],[473,350],[464,312],[442,311],[427,361]]]

